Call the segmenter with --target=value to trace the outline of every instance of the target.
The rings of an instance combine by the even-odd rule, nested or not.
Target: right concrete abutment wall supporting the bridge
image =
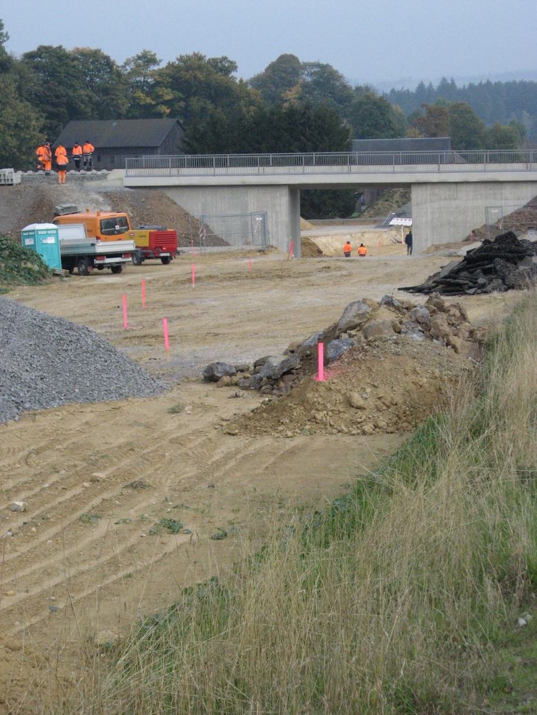
[[[535,181],[412,184],[415,253],[464,240],[483,226],[488,206],[523,206],[536,195]]]

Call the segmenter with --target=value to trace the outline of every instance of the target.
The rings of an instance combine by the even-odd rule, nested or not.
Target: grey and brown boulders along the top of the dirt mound
[[[324,363],[329,365],[360,343],[377,340],[434,340],[469,357],[478,355],[476,343],[483,331],[468,322],[463,306],[447,305],[431,295],[425,305],[414,305],[384,295],[380,302],[364,298],[349,303],[337,323],[315,332],[303,342],[292,342],[282,355],[266,355],[253,364],[211,363],[203,370],[205,382],[218,387],[237,385],[243,390],[284,395],[306,375],[316,373],[317,343],[324,342]]]

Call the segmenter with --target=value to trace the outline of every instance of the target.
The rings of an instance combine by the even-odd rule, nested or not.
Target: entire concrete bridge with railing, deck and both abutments
[[[193,215],[268,212],[273,245],[300,250],[300,189],[409,186],[415,251],[460,241],[485,207],[537,195],[537,151],[211,154],[127,159],[126,187],[158,187]]]

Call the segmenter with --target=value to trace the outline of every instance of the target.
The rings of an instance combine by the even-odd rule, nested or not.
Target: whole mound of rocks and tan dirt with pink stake
[[[283,355],[251,365],[211,363],[203,379],[236,385],[239,397],[246,389],[267,395],[260,408],[226,425],[231,434],[395,432],[437,406],[447,383],[471,366],[468,358],[479,357],[483,337],[462,306],[446,305],[439,295],[425,305],[385,295],[350,303],[337,323],[291,343]],[[324,383],[314,379],[321,341]]]

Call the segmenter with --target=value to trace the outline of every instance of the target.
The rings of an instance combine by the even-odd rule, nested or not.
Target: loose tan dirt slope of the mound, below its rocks
[[[434,342],[358,345],[329,368],[326,382],[310,377],[286,398],[267,398],[231,423],[231,432],[291,437],[410,430],[445,403],[469,364]]]

